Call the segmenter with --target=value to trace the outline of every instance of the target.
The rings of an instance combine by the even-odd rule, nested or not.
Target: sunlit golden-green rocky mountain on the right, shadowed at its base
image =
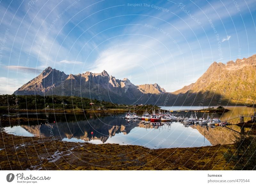
[[[200,103],[212,105],[252,104],[255,100],[256,55],[228,61],[227,64],[213,62],[195,82],[173,92],[186,97],[185,105]]]

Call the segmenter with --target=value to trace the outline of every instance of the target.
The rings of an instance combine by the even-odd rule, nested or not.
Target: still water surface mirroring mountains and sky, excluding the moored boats
[[[231,108],[230,108],[231,109]],[[241,111],[250,113],[252,108],[233,107],[224,114],[214,117],[234,118]],[[177,116],[188,116],[191,112],[177,112]],[[198,112],[201,117],[203,113]],[[24,114],[21,117],[37,117],[43,121],[21,123],[17,126],[5,127],[5,132],[19,136],[51,137],[79,143],[117,143],[121,145],[140,145],[148,148],[200,147],[216,144],[229,144],[234,140],[235,131],[241,128],[236,125],[214,127],[189,125],[179,122],[153,126],[141,120],[127,121],[124,114]],[[55,122],[54,122],[55,121]],[[42,123],[41,123],[42,122]],[[233,129],[233,130],[230,130]]]

